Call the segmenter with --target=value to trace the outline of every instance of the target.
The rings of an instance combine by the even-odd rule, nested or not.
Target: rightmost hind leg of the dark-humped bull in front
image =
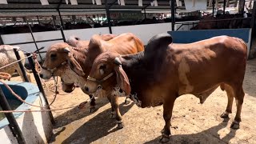
[[[241,110],[243,98],[245,96],[244,91],[242,90],[242,86],[234,89],[234,98],[237,105],[237,113],[235,114],[234,121],[231,124],[232,129],[239,129],[239,123],[241,122]]]

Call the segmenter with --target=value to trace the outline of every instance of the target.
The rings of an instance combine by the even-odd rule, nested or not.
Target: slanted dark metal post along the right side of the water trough
[[[27,53],[26,56],[30,56],[30,53]],[[38,72],[35,70],[35,67],[34,67],[34,60],[33,60],[32,57],[28,58],[28,60],[30,62],[31,69],[32,69],[33,74],[34,74],[35,81],[38,84],[38,88],[39,88],[40,92],[42,93],[43,98],[45,98],[47,110],[50,110],[50,106],[49,106],[49,102],[48,102],[48,100],[46,98],[45,90],[43,90],[42,83],[40,81]],[[50,114],[50,121],[52,122],[52,124],[54,124],[54,116],[51,113],[51,111],[50,111],[49,114]]]

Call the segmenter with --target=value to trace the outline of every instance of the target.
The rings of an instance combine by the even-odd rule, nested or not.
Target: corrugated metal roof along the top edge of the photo
[[[40,0],[7,0],[8,4],[0,4],[0,16],[5,14],[19,14],[22,10],[23,12],[30,14],[38,14],[42,12],[45,14],[46,11],[40,10],[49,10],[50,13],[54,12],[51,10],[57,10],[64,12],[65,10],[72,10],[74,14],[77,12],[81,12],[79,10],[83,10],[85,13],[90,13],[90,10],[98,10],[102,14],[102,10],[105,10],[105,0],[102,0],[102,5],[94,5],[92,0],[77,0],[78,5],[71,5],[70,3],[67,5],[66,0],[48,0],[49,5],[42,6]],[[158,0],[158,6],[151,6],[150,2],[153,0],[143,0],[143,5],[138,6],[138,0],[125,0],[126,6],[118,5],[118,0],[108,0],[109,5],[113,5],[110,7],[110,10],[142,10],[144,8],[151,10],[170,10],[170,0]],[[177,7],[179,10],[185,10],[185,2],[182,1],[182,6]],[[222,6],[224,0],[218,0],[218,6]],[[70,2],[70,0],[69,0]],[[207,0],[207,6],[209,7],[209,2],[211,0]],[[236,0],[230,0],[230,5],[234,5]],[[176,1],[175,1],[176,3]],[[176,4],[175,4],[176,5]],[[132,9],[132,10],[131,10]],[[98,13],[97,11],[95,11]]]

